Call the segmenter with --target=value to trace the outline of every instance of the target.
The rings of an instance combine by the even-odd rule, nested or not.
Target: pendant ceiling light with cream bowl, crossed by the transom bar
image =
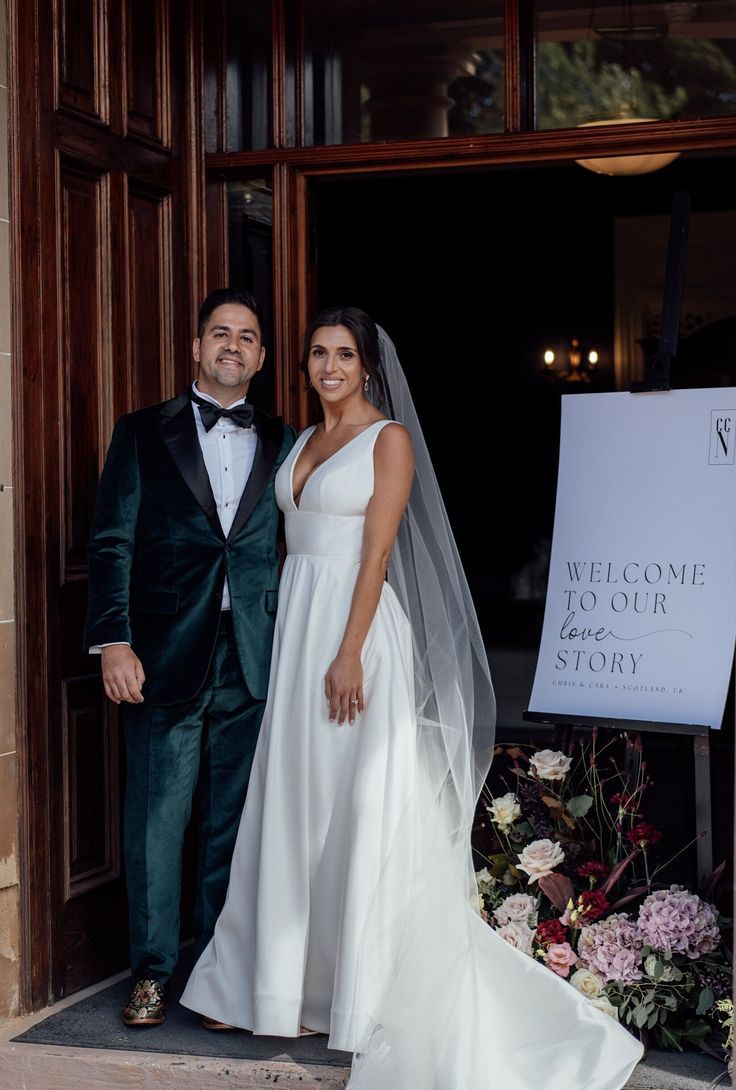
[[[662,5],[657,5],[662,11]],[[631,0],[626,0],[622,5],[622,20],[617,26],[603,26],[595,24],[595,0],[593,0],[590,12],[590,29],[604,41],[614,41],[620,45],[622,68],[628,73],[629,94],[628,100],[622,100],[615,117],[599,121],[584,121],[578,129],[602,128],[604,125],[623,124],[651,124],[655,118],[638,117],[639,110],[639,84],[641,80],[640,71],[635,66],[631,52],[634,43],[657,41],[667,35],[667,23],[659,20],[650,22],[635,21]],[[651,174],[654,170],[661,170],[680,155],[679,152],[654,152],[640,155],[614,155],[600,156],[588,159],[576,159],[580,167],[591,170],[595,174],[631,175]]]

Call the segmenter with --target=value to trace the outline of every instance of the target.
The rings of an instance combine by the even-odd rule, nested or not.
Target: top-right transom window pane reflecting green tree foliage
[[[736,113],[736,3],[536,0],[536,125]]]

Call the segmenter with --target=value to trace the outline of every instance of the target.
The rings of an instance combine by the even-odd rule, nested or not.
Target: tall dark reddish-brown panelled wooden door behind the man
[[[181,0],[12,0],[26,1007],[126,965],[116,708],[82,646],[116,419],[190,375],[196,96]],[[194,73],[195,74],[195,73]],[[194,104],[196,106],[196,102]]]

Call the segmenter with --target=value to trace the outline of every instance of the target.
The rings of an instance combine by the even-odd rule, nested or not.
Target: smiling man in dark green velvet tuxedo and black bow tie
[[[220,289],[200,311],[196,382],[117,424],[89,544],[86,646],[122,704],[129,1026],[166,1016],[184,829],[198,780],[197,953],[225,901],[261,726],[278,585],[274,476],[293,432],[246,401],[261,310]]]

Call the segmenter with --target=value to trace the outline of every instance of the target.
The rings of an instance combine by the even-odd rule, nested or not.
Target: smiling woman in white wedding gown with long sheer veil
[[[493,689],[394,346],[326,310],[302,370],[324,420],[276,477],[266,712],[181,1002],[210,1026],[329,1034],[350,1090],[620,1090],[638,1042],[473,908]]]

